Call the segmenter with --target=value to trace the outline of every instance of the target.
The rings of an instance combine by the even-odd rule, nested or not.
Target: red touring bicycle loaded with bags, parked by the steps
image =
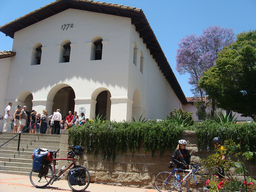
[[[54,181],[58,181],[60,180],[64,175],[64,173],[73,165],[72,168],[78,168],[79,169],[79,173],[80,175],[77,176],[77,178],[79,178],[79,183],[72,183],[71,178],[70,178],[70,172],[68,174],[67,180],[68,180],[68,184],[69,187],[76,192],[81,192],[84,191],[90,184],[90,173],[88,171],[88,169],[84,166],[81,165],[76,165],[75,163],[75,146],[70,146],[69,147],[71,150],[68,152],[67,154],[67,159],[56,159],[53,158],[53,160],[51,162],[49,162],[48,165],[45,166],[45,168],[43,169],[43,171],[41,173],[35,173],[33,172],[33,169],[30,172],[29,178],[30,178],[30,182],[33,184],[33,186],[37,187],[37,188],[43,188],[46,187],[49,184],[53,184]],[[52,150],[47,150],[49,153],[53,153],[56,154],[59,149],[57,151],[52,151]],[[56,165],[56,160],[68,160],[68,161],[72,161],[72,163],[68,166],[68,167],[62,167],[62,169],[60,169],[60,172],[58,173],[58,171],[56,171],[55,169],[55,165]],[[53,163],[53,168],[51,163]],[[57,172],[57,173],[56,173]]]

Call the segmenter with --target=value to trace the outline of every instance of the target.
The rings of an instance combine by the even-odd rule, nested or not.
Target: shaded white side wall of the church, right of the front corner
[[[137,44],[137,66],[133,63],[133,46]],[[146,119],[166,118],[173,108],[181,107],[181,102],[175,95],[170,84],[157,66],[155,59],[150,55],[143,39],[131,26],[130,62],[128,78],[128,97],[132,98],[136,89],[141,95],[141,113]],[[141,53],[143,53],[143,73],[140,71]],[[137,116],[138,119],[138,116]]]

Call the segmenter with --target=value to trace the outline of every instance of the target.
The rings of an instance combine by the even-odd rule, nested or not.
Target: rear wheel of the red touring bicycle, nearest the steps
[[[48,165],[48,169],[43,173],[35,173],[32,169],[29,175],[30,182],[37,188],[46,187],[52,181],[52,177],[53,169],[51,165]]]

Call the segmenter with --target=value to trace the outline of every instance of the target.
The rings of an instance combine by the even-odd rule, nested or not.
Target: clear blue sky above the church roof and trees
[[[0,26],[54,0],[0,0]],[[186,34],[200,35],[210,25],[234,33],[256,29],[256,0],[107,0],[142,9],[186,97],[193,97],[189,75],[175,70],[177,43]],[[0,50],[12,50],[9,36],[0,32]]]

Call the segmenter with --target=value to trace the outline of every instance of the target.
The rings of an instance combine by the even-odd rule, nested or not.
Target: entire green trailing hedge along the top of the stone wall
[[[84,146],[87,154],[96,157],[102,151],[103,159],[109,161],[112,156],[114,161],[117,152],[125,153],[129,150],[134,154],[141,144],[144,144],[145,152],[151,151],[152,156],[156,150],[161,155],[166,150],[170,152],[176,148],[184,130],[196,132],[199,149],[212,149],[212,139],[220,136],[223,141],[233,139],[236,143],[241,143],[243,151],[256,152],[256,123],[220,125],[214,121],[203,121],[184,128],[169,121],[105,121],[103,124],[87,123],[73,127],[69,129],[69,138],[72,138],[73,145]]]

